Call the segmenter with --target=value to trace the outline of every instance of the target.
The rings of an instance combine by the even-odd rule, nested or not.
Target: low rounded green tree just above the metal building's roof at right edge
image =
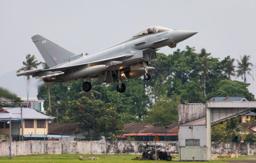
[[[247,89],[249,84],[231,80],[221,80],[207,96],[207,99],[212,97],[239,96],[245,97],[249,101],[254,101],[254,96]]]

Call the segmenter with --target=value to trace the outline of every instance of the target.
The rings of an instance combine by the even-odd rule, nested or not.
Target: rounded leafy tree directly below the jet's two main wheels
[[[84,131],[93,129],[95,132],[123,132],[124,122],[109,103],[81,97],[69,102],[68,108],[66,117],[69,117],[71,123],[84,124]]]

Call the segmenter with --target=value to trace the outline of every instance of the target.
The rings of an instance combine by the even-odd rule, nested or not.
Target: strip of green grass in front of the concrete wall
[[[99,160],[84,160],[80,161],[79,156],[97,157]],[[0,157],[0,163],[155,163],[154,160],[132,160],[134,157],[141,155],[83,155],[83,154],[62,154],[62,155],[27,155],[27,156],[13,156],[11,161],[9,157]],[[178,157],[178,156],[177,156]],[[178,158],[173,158],[178,159]],[[158,163],[173,163],[166,160],[157,160]],[[177,163],[179,161],[175,161]],[[183,162],[184,163],[184,162]],[[186,162],[189,163],[189,162]],[[193,162],[202,163],[202,162]],[[208,162],[207,162],[208,163]],[[214,163],[225,163],[221,161],[214,161]]]

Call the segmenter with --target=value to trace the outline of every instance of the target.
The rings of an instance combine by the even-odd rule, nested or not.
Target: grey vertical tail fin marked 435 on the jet
[[[50,68],[66,62],[65,59],[75,55],[41,35],[34,35],[31,39]]]

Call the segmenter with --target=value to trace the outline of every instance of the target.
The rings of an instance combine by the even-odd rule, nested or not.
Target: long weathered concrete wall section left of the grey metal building
[[[154,144],[154,142],[148,142]],[[142,154],[143,142],[128,141],[45,141],[46,154]],[[178,154],[178,142],[157,142]],[[9,156],[9,142],[0,142],[0,156]],[[44,141],[11,142],[11,155],[44,154]]]

